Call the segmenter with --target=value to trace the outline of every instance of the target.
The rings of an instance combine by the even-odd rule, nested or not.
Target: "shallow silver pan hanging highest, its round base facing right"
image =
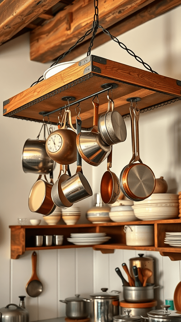
[[[98,122],[98,128],[102,139],[108,144],[124,142],[126,140],[127,131],[126,124],[118,111],[114,110],[114,101],[108,98],[108,110],[103,113]],[[111,108],[110,108],[111,103]]]

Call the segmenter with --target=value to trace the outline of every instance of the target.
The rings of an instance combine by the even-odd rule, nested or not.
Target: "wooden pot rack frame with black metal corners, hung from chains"
[[[106,112],[108,99],[104,84],[109,87],[110,83],[115,85],[112,89],[114,107],[122,116],[129,114],[129,98],[141,99],[138,102],[140,110],[181,99],[179,80],[90,55],[4,101],[3,115],[43,122],[43,115],[51,112],[49,120],[57,124],[60,109],[65,107],[62,98],[74,97],[75,102],[70,103],[81,101],[82,128],[90,129],[93,125],[92,97],[99,93],[99,114]],[[71,109],[74,125],[76,115],[75,109]],[[48,117],[44,117],[44,121],[48,122]]]

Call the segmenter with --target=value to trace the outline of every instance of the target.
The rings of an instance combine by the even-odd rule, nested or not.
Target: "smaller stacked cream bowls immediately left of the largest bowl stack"
[[[133,201],[119,200],[119,204],[118,202],[116,205],[115,204],[112,205],[109,213],[109,217],[112,221],[120,223],[137,220],[132,208]]]

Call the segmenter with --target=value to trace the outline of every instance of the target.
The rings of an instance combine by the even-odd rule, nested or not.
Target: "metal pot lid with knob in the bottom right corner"
[[[150,311],[148,312],[148,316],[149,317],[162,317],[164,319],[177,319],[177,318],[181,318],[181,312],[179,311],[172,311],[172,310],[169,310],[168,312],[168,308],[170,308],[170,305],[161,305],[161,308],[160,310],[154,310],[154,311]]]

